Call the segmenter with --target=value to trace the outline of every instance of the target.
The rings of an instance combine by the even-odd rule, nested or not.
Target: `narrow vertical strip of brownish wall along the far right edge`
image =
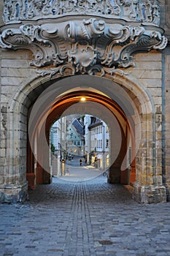
[[[170,42],[170,1],[161,1],[161,26],[165,30],[165,36]],[[170,48],[169,44],[163,50],[162,56],[162,94],[163,94],[163,146],[162,146],[162,162],[163,162],[163,183],[166,184],[167,194],[170,188]],[[169,195],[167,196],[170,200]]]

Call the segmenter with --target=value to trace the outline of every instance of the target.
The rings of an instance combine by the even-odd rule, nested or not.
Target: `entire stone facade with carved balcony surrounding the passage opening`
[[[0,20],[0,200],[26,200],[26,172],[34,172],[36,182],[40,183],[38,163],[41,164],[42,159],[37,151],[39,135],[32,127],[29,129],[30,118],[37,118],[34,124],[41,134],[41,121],[47,119],[47,126],[50,126],[54,113],[59,118],[66,104],[70,104],[70,101],[74,103],[72,95],[77,96],[77,91],[81,90],[87,97],[93,95],[94,102],[100,101],[111,110],[119,121],[115,127],[120,127],[125,140],[131,137],[134,155],[131,171],[136,173],[132,182],[134,199],[141,203],[169,200],[168,1],[113,1],[115,9],[111,1],[106,1],[107,13],[101,14],[100,8],[93,4],[90,15],[85,12],[87,7],[80,8],[80,1],[74,1],[72,10],[61,8],[62,12],[55,12],[55,15],[50,10],[58,10],[59,1],[53,1],[55,8],[45,5],[45,1],[36,1],[36,4],[39,2],[36,13],[31,11],[33,7],[30,6],[26,16],[23,15],[23,6],[16,2],[19,3],[0,1],[0,12],[4,10],[4,15],[0,16],[4,17]],[[85,2],[88,4],[91,1]],[[46,12],[45,7],[48,7]],[[135,17],[132,12],[134,8],[138,10]],[[75,16],[77,10],[80,12]],[[29,16],[29,12],[32,16]],[[32,117],[34,103],[50,86],[53,86],[51,90],[55,94],[47,91],[50,95],[47,105],[43,102],[42,112],[40,107],[36,108],[37,114]],[[68,94],[70,99],[63,97],[63,94]],[[108,102],[103,94],[109,97]],[[59,99],[63,100],[63,105]],[[49,110],[50,105],[55,105],[55,110]],[[88,113],[91,114],[90,110]],[[97,110],[96,115],[102,119]],[[104,121],[112,127],[110,118],[105,118]],[[30,141],[37,143],[32,146],[37,159],[34,167],[28,164],[28,159],[31,159],[31,154],[28,154],[30,134]],[[115,143],[117,138],[113,131],[111,138]],[[46,151],[43,154],[48,154],[47,145],[44,146]],[[115,151],[110,148],[111,162],[115,161],[115,164],[110,167],[109,182],[119,181],[120,162],[125,157],[123,148],[127,149],[128,146],[121,146],[119,157],[115,157]],[[46,164],[47,168],[44,169],[50,165],[48,161]]]

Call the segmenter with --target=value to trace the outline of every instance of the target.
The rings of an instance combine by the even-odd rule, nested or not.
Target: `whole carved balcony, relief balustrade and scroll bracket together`
[[[158,0],[5,0],[0,47],[31,50],[41,75],[123,74],[135,53],[166,47],[159,18]]]

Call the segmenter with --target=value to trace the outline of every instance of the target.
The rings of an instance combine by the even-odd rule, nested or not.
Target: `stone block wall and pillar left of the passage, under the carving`
[[[0,189],[1,200],[20,201],[27,197],[26,185],[26,144],[27,113],[24,110],[20,117],[10,109],[12,97],[22,84],[31,81],[32,69],[29,67],[29,52],[20,50],[1,50],[1,157]],[[25,114],[24,114],[25,113]],[[12,138],[18,131],[18,137]],[[20,136],[19,136],[20,134]],[[22,138],[18,140],[18,138]],[[20,157],[16,156],[19,152]]]

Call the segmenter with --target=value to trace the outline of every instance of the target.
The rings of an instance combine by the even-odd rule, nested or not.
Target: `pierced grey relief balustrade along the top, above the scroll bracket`
[[[4,0],[4,23],[63,15],[98,15],[159,25],[158,0]]]

